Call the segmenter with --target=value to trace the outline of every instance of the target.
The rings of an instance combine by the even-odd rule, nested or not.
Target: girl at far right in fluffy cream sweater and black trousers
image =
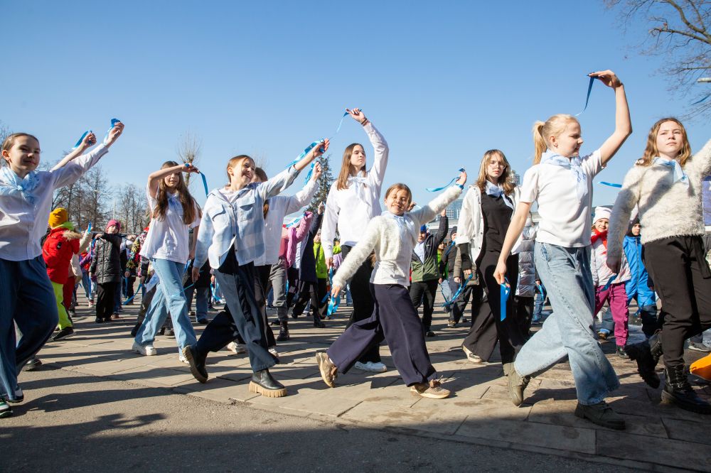
[[[662,399],[680,408],[711,414],[684,371],[684,341],[711,327],[711,271],[705,260],[701,207],[702,179],[711,173],[711,141],[691,156],[683,124],[656,122],[642,158],[629,170],[617,195],[609,229],[607,266],[619,269],[622,239],[635,205],[644,228],[643,262],[662,300],[662,330],[649,341],[628,347],[639,374],[656,388],[654,367],[664,355]]]

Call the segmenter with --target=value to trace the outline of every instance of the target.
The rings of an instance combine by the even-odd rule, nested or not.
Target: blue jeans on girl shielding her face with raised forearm
[[[167,259],[151,258],[153,269],[160,278],[156,293],[146,312],[146,318],[136,332],[136,342],[141,345],[152,344],[156,333],[161,330],[170,312],[173,319],[178,352],[184,347],[195,344],[195,330],[188,316],[188,304],[183,291],[183,271],[185,263],[176,263]]]

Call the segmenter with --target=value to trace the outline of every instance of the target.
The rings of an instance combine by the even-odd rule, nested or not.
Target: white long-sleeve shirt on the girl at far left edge
[[[47,230],[54,191],[75,183],[108,151],[109,148],[100,144],[63,168],[37,171],[36,178],[39,183],[32,191],[34,204],[29,203],[19,192],[4,195],[0,199],[0,259],[24,261],[40,256],[40,240]],[[0,176],[0,185],[12,183],[6,182]]]

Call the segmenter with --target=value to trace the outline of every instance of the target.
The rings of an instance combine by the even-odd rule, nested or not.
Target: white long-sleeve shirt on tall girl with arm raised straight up
[[[358,197],[354,184],[338,190],[338,182],[331,185],[326,199],[324,224],[321,227],[321,242],[324,245],[326,259],[333,257],[333,239],[336,228],[341,234],[341,246],[353,246],[363,235],[363,229],[373,217],[380,215],[380,190],[383,187],[385,167],[387,166],[387,142],[380,131],[368,121],[363,126],[370,143],[375,150],[375,162],[366,176],[365,188]]]

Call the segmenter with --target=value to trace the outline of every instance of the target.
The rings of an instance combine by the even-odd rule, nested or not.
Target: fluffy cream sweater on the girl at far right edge
[[[622,239],[627,232],[629,216],[639,207],[642,244],[669,237],[703,235],[701,185],[711,173],[711,140],[684,165],[689,185],[673,181],[673,169],[661,165],[636,164],[624,178],[622,190],[612,209],[608,254],[622,255]]]

